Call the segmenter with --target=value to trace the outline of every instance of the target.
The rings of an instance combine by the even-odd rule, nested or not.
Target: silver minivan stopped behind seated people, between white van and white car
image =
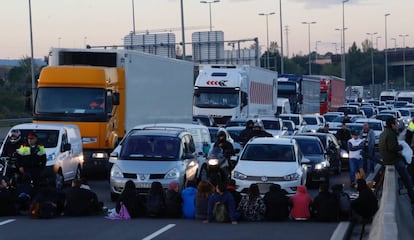
[[[192,135],[180,129],[133,129],[111,154],[111,199],[117,199],[125,183],[132,180],[139,193],[147,193],[151,183],[164,188],[177,181],[196,180],[199,163]]]

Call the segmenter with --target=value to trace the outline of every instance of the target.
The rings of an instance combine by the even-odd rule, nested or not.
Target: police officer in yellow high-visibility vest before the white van
[[[17,165],[22,175],[28,175],[36,187],[46,168],[46,151],[44,146],[37,144],[36,133],[27,135],[28,144],[21,145],[17,150]]]

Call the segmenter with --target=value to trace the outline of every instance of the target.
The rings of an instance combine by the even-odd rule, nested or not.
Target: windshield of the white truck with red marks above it
[[[235,89],[196,89],[194,106],[200,108],[235,108],[239,105],[239,93]]]

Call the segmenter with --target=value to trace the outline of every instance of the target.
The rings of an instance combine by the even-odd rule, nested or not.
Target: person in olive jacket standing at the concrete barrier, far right
[[[404,157],[400,154],[402,146],[398,144],[398,123],[395,118],[389,118],[385,122],[386,128],[380,135],[379,151],[384,165],[394,165],[400,175],[404,186],[407,188],[411,204],[414,204],[414,190],[411,176],[408,173]]]

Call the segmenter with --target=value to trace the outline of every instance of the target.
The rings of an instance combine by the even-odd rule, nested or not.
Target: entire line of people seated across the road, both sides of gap
[[[0,184],[0,216],[27,214],[32,218],[65,216],[90,216],[103,214],[103,204],[85,184],[74,179],[72,186],[57,190],[47,180],[33,192],[30,182],[19,188],[10,187],[7,179]],[[314,198],[305,186],[298,186],[297,193],[288,196],[278,184],[272,184],[263,196],[257,184],[251,184],[246,194],[236,191],[235,181],[216,186],[208,181],[188,181],[180,191],[179,183],[172,181],[164,190],[160,182],[153,182],[147,195],[140,195],[129,180],[120,194],[115,211],[124,205],[131,218],[187,218],[204,223],[238,221],[349,221],[372,219],[378,210],[375,194],[364,179],[358,179],[358,198],[350,200],[341,184],[321,184]]]

